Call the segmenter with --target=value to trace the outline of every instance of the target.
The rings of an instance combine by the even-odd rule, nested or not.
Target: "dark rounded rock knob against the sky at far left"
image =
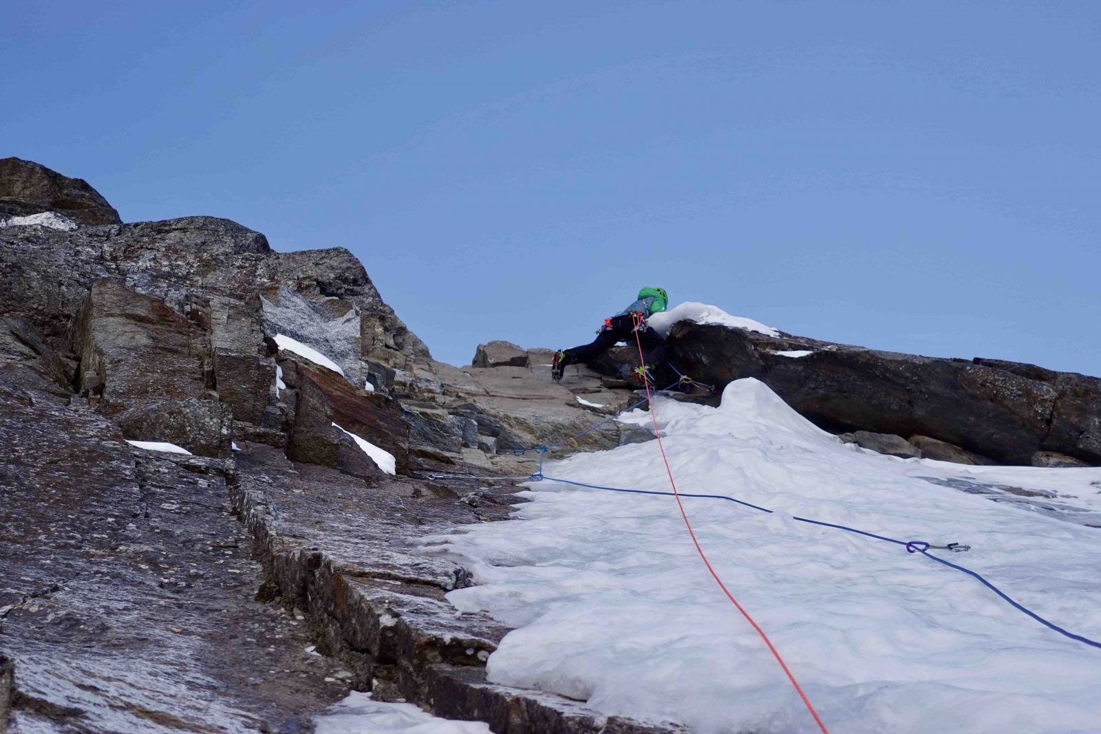
[[[119,212],[80,178],[21,158],[0,158],[0,219],[56,211],[81,224],[121,224]]]

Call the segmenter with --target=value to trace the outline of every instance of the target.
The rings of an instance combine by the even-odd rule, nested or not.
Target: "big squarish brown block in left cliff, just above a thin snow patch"
[[[229,450],[230,410],[209,388],[203,328],[164,302],[97,281],[73,328],[78,391],[123,436],[168,441],[207,457]]]

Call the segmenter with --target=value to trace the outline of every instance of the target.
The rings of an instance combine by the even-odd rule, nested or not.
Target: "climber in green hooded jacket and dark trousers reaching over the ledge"
[[[653,379],[654,371],[665,361],[665,338],[646,324],[646,319],[659,314],[668,306],[669,298],[665,288],[645,287],[639,291],[639,298],[615,316],[604,319],[604,325],[597,332],[597,338],[589,344],[563,349],[554,353],[550,365],[550,376],[555,382],[562,380],[563,369],[567,364],[588,362],[608,351],[615,342],[634,342],[634,332],[639,332],[639,342],[645,352],[644,365],[635,368],[631,377],[639,383],[644,379]],[[643,373],[645,370],[645,374]]]

